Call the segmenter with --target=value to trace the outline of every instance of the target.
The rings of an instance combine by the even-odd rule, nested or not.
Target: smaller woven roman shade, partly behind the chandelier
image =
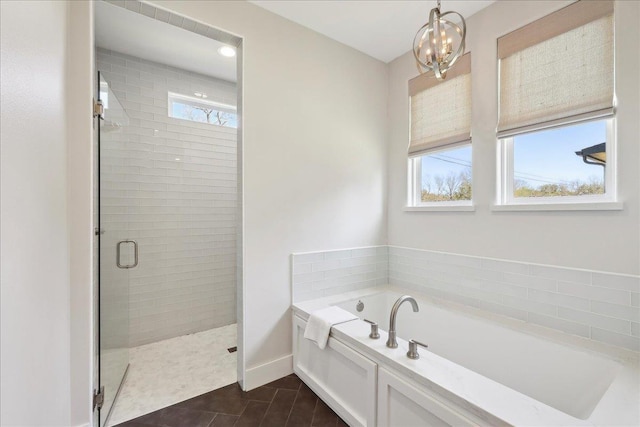
[[[471,140],[471,54],[460,57],[444,81],[433,72],[409,80],[409,155]]]

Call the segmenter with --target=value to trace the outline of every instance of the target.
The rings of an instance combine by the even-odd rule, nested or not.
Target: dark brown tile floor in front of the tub
[[[347,424],[295,374],[243,392],[238,384],[185,400],[118,427],[343,427]]]

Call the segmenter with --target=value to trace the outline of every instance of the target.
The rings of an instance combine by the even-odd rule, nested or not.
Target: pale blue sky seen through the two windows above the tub
[[[581,123],[517,136],[514,141],[514,169],[517,179],[532,187],[591,177],[603,179],[602,166],[588,165],[574,153],[606,141],[606,121]],[[471,164],[471,147],[434,153],[422,158],[423,176],[461,172]]]

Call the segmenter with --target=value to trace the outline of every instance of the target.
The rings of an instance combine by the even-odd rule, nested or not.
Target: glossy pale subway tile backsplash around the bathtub
[[[373,282],[349,270],[354,250],[293,255],[293,301],[388,283],[640,351],[640,276],[396,246],[357,250],[375,250]]]

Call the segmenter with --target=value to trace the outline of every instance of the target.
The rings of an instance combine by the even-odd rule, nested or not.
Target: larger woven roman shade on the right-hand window
[[[613,115],[613,1],[581,0],[498,39],[498,137]]]

